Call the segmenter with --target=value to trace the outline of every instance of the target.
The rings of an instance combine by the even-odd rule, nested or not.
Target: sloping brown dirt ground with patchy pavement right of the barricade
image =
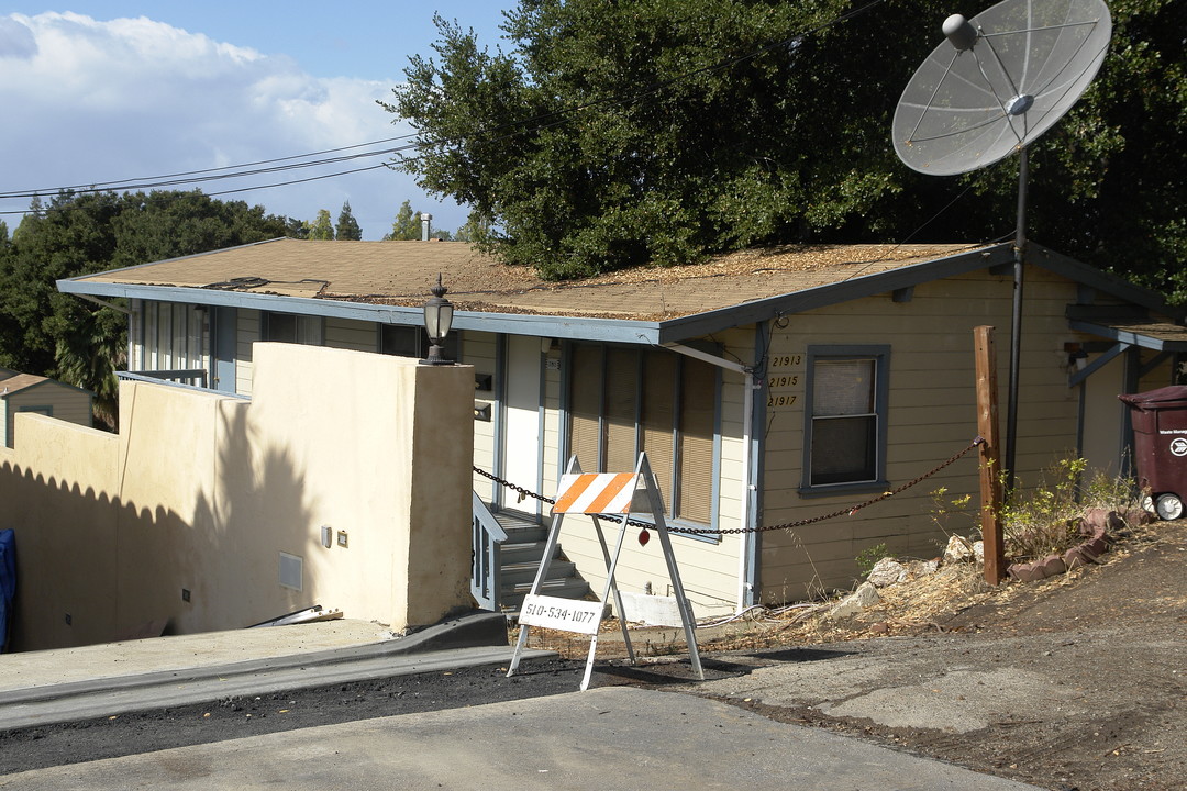
[[[621,683],[1045,789],[1187,789],[1187,519],[1125,531],[1102,564],[1039,583],[990,588],[952,566],[881,593],[848,620],[800,608],[698,639],[705,682],[674,657],[611,664]],[[588,648],[553,643],[572,658]]]

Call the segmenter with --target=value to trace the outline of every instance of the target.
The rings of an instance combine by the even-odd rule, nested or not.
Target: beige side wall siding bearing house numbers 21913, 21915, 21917
[[[972,330],[996,326],[999,429],[1005,430],[1009,382],[1009,330],[1013,282],[1008,276],[975,273],[916,286],[909,302],[890,294],[787,317],[772,334],[768,379],[798,377],[770,391],[795,396],[767,417],[763,522],[782,524],[846,505],[877,492],[804,497],[805,365],[808,346],[889,345],[889,404],[886,476],[897,486],[927,472],[977,434]],[[1065,308],[1077,299],[1075,285],[1028,268],[1027,318],[1020,358],[1017,478],[1033,485],[1055,459],[1074,454],[1078,394],[1068,387],[1065,343],[1080,340],[1067,327]],[[779,365],[780,362],[786,363]],[[820,589],[848,588],[857,573],[855,559],[886,543],[894,554],[933,557],[944,532],[932,518],[931,492],[950,497],[978,492],[976,455],[939,472],[914,489],[863,509],[793,532],[766,532],[762,542],[763,600],[785,601]],[[967,532],[971,522],[948,530]]]

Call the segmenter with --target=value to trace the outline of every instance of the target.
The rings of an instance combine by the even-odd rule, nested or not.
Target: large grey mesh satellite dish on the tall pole
[[[895,110],[895,152],[912,170],[954,176],[1026,148],[1088,87],[1109,49],[1103,0],[1005,0],[942,42]]]

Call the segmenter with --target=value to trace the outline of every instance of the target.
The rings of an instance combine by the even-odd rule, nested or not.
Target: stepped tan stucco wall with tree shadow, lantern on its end
[[[293,344],[253,358],[250,402],[123,383],[118,436],[18,417],[0,528],[17,529],[19,649],[316,604],[400,630],[469,605],[474,370]],[[301,589],[280,585],[281,553]]]

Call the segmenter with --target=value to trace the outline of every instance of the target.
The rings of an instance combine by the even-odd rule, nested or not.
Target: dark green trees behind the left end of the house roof
[[[127,319],[56,281],[284,236],[292,222],[197,190],[34,198],[0,242],[0,365],[94,391],[97,416],[112,423]]]

